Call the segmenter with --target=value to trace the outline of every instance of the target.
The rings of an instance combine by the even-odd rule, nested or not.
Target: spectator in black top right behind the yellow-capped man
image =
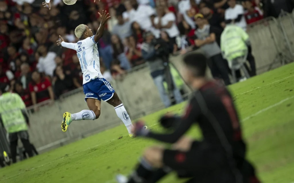
[[[225,19],[224,17],[217,12],[214,12],[209,7],[201,8],[201,13],[203,14],[204,18],[206,18],[211,26],[223,29],[225,27]]]

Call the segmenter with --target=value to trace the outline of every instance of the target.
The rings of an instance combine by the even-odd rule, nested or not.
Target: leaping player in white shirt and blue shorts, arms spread
[[[66,131],[72,121],[98,119],[101,113],[102,99],[114,107],[117,116],[126,125],[129,136],[133,137],[131,131],[133,125],[125,107],[110,83],[103,78],[100,72],[97,42],[102,37],[104,25],[110,16],[108,16],[106,11],[102,11],[102,15],[99,13],[99,16],[101,17],[101,23],[95,35],[93,35],[92,30],[89,29],[87,25],[81,24],[75,29],[75,35],[80,41],[77,43],[67,43],[64,42],[61,36],[59,36],[60,40],[57,41],[57,45],[74,49],[77,52],[83,73],[83,90],[86,95],[85,101],[90,109],[82,110],[74,114],[65,112],[63,114],[61,129],[62,131]]]

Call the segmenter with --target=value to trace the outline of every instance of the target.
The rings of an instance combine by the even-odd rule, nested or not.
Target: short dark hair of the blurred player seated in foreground
[[[184,64],[188,66],[195,77],[206,75],[207,57],[202,53],[191,53],[184,57]]]

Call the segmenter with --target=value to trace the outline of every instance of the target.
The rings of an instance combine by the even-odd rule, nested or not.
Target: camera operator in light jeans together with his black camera
[[[161,100],[166,107],[171,106],[171,100],[165,91],[163,81],[168,85],[168,91],[173,95],[176,103],[183,101],[180,90],[176,88],[168,66],[168,56],[173,48],[162,39],[156,40],[151,32],[143,35],[142,57],[147,61],[151,76],[158,89]]]

